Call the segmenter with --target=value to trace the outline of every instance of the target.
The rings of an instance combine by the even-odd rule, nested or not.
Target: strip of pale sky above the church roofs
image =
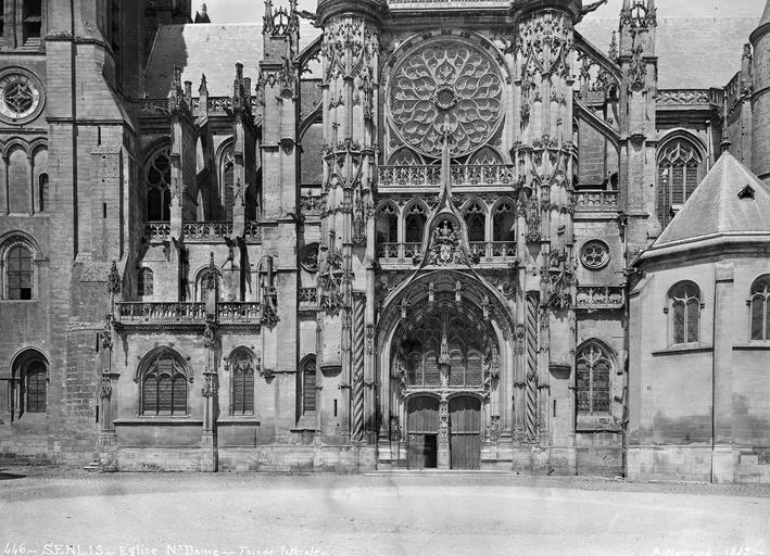
[[[589,3],[590,0],[583,0]],[[592,0],[591,0],[592,1]],[[200,9],[202,0],[193,0]],[[288,5],[288,0],[274,0],[274,5]],[[657,0],[659,17],[759,17],[766,0]],[[213,23],[250,23],[262,20],[263,0],[205,0]],[[300,10],[315,11],[316,0],[299,0]],[[609,0],[590,17],[615,18],[622,0]]]

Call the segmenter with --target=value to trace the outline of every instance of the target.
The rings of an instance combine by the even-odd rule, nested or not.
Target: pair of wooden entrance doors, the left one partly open
[[[407,463],[409,469],[436,468],[439,454],[439,400],[412,397],[407,404]],[[457,396],[449,402],[449,451],[452,469],[481,467],[481,402]],[[445,441],[444,441],[445,442]]]

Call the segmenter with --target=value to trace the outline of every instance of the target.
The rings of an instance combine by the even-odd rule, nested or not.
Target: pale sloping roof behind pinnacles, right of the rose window
[[[766,15],[770,17],[767,10]],[[724,87],[741,70],[743,45],[748,42],[757,21],[757,17],[658,18],[658,88]],[[618,20],[585,20],[577,29],[607,52],[613,31],[618,30]]]

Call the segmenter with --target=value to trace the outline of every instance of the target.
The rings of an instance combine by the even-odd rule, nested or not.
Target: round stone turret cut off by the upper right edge
[[[770,0],[749,40],[754,48],[752,169],[767,184],[770,180]]]

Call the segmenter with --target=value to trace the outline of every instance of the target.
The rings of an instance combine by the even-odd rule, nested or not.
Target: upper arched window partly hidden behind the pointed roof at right
[[[700,166],[699,150],[685,139],[669,141],[658,151],[658,218],[664,227],[698,187]]]

